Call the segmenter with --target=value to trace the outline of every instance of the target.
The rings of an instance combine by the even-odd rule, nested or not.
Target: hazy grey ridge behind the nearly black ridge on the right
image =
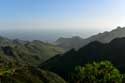
[[[58,40],[56,40],[55,44],[66,50],[70,50],[72,48],[79,49],[80,47],[85,46],[92,41],[109,43],[111,40],[121,37],[125,37],[125,27],[117,27],[110,32],[106,31],[104,33],[99,33],[86,39],[77,36],[72,38],[59,38]]]

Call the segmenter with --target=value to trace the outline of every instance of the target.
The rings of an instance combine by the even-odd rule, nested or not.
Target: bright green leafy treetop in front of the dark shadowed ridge
[[[72,83],[122,83],[123,75],[109,61],[77,66],[71,73]]]

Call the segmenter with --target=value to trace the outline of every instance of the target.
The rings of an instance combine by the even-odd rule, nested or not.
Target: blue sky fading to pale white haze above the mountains
[[[125,0],[0,0],[0,34],[85,38],[125,26],[124,4]]]

